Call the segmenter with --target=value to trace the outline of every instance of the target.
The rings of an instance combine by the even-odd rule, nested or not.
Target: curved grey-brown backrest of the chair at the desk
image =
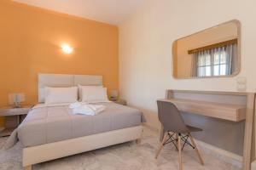
[[[157,101],[158,106],[158,118],[162,123],[163,127],[167,131],[173,133],[187,133],[189,132],[188,127],[183,121],[180,111],[177,107],[168,101]]]

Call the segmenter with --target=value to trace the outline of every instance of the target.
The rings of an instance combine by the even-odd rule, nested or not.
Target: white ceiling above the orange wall
[[[13,0],[90,20],[118,25],[145,0]]]

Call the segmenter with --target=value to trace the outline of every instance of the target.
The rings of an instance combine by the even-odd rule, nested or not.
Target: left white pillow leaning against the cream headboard
[[[73,103],[78,101],[78,87],[45,88],[45,104]]]

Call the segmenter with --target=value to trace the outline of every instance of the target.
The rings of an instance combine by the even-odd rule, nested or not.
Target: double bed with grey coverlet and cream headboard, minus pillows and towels
[[[101,76],[38,75],[38,102],[44,102],[44,87],[102,85]],[[36,105],[17,129],[24,145],[23,167],[96,150],[132,140],[140,142],[142,113],[113,102],[101,103],[106,110],[96,116],[73,115],[68,104]]]

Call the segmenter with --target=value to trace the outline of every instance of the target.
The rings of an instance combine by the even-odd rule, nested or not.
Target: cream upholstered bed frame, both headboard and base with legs
[[[46,86],[70,87],[78,84],[102,85],[102,76],[38,74],[38,102],[44,102],[44,87]],[[80,138],[26,147],[23,148],[22,164],[26,170],[32,170],[33,164],[73,156],[113,144],[121,144],[132,140],[136,140],[139,144],[142,132],[142,126],[127,127],[106,133],[96,133]]]

